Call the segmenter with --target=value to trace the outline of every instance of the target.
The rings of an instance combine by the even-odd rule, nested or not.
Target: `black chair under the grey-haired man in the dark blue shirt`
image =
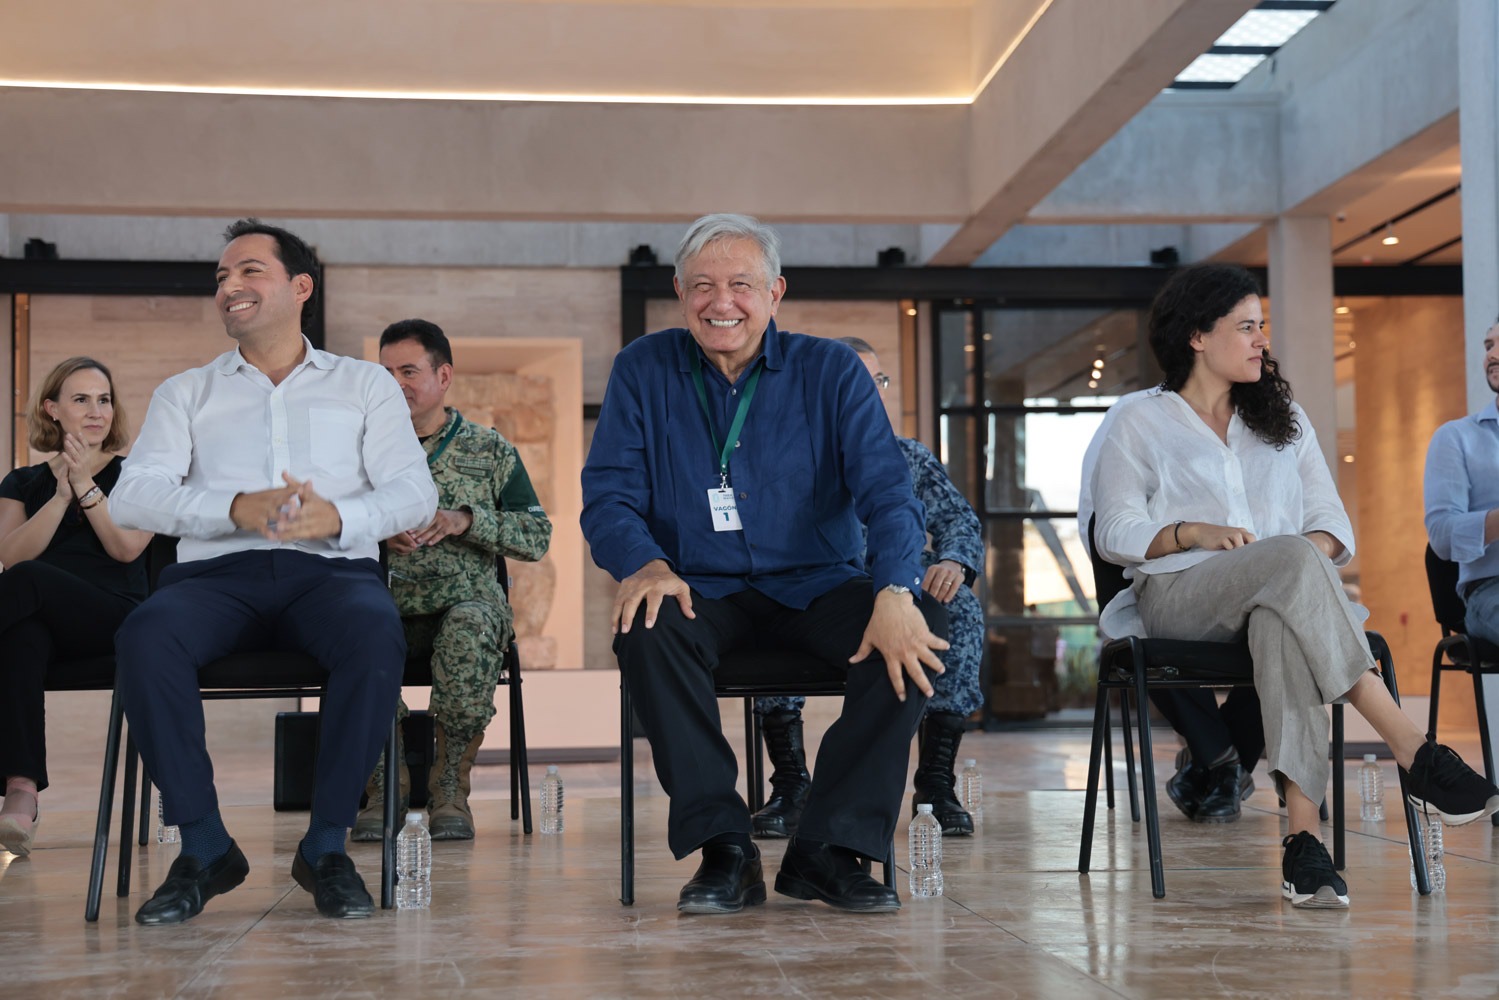
[[[736,649],[714,672],[718,697],[742,697],[745,705],[745,778],[750,811],[764,805],[764,762],[760,756],[757,697],[841,696],[847,670],[805,652]],[[619,901],[636,903],[636,747],[634,705],[625,675],[619,675]],[[884,885],[895,888],[895,841],[884,855]]]

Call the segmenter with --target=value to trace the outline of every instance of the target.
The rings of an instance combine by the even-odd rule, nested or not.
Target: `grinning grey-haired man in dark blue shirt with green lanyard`
[[[848,670],[776,892],[898,910],[862,862],[895,832],[928,673],[947,648],[946,612],[920,594],[922,504],[859,357],[775,327],[785,279],[773,229],[699,219],[675,286],[687,328],[615,358],[582,523],[619,580],[615,652],[672,799],[667,843],[679,859],[703,852],[678,909],[733,913],[766,898],[712,672],[729,649],[769,643]]]

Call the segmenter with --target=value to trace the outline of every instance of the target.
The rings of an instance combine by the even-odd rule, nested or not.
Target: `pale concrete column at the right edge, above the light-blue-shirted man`
[[[1495,397],[1484,333],[1499,318],[1499,6],[1459,0],[1459,129],[1463,147],[1463,331],[1468,412]]]

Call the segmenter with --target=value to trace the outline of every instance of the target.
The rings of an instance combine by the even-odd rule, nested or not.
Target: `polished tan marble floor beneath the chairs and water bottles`
[[[1301,912],[1279,898],[1282,820],[1264,781],[1226,828],[1193,826],[1162,796],[1168,897],[1157,901],[1123,799],[1100,813],[1093,874],[1076,871],[1087,750],[1084,732],[970,735],[985,816],[977,837],[946,841],[946,895],[862,918],[773,892],[742,915],[679,916],[694,864],[663,847],[666,801],[640,741],[636,906],[618,901],[613,765],[564,766],[561,837],[522,837],[505,771],[484,768],[480,840],[436,846],[429,912],[324,921],[289,876],[306,817],[270,810],[268,766],[220,760],[250,877],[186,925],[141,928],[130,915],[174,849],[138,849],[129,898],[106,895],[99,922],[85,924],[97,751],[66,748],[39,849],[24,861],[0,853],[4,996],[1499,996],[1499,831],[1487,823],[1448,831],[1448,889],[1418,898],[1399,819],[1364,825],[1355,799],[1354,906]],[[770,879],[778,855],[766,846]],[[378,846],[355,846],[354,858],[373,883]],[[106,892],[112,883],[111,862]]]

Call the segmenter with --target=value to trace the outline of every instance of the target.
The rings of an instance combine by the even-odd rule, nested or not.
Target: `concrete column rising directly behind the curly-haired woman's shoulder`
[[[1282,216],[1270,225],[1270,352],[1291,381],[1337,477],[1333,376],[1333,226],[1325,216]]]

